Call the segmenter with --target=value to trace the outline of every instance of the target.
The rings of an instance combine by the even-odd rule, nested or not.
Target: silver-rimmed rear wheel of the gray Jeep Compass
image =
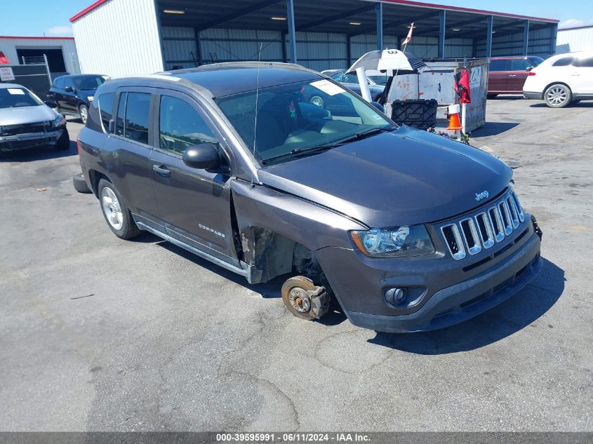
[[[131,239],[140,234],[130,210],[111,182],[105,179],[99,181],[98,196],[103,217],[113,234],[120,239]]]

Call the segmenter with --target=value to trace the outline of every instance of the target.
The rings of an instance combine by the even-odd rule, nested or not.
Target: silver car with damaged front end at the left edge
[[[50,105],[50,106],[48,106]],[[21,85],[0,83],[0,152],[50,146],[68,149],[66,120]]]

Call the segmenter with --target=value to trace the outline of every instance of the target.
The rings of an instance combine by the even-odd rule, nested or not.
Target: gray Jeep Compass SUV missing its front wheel
[[[331,107],[311,104],[314,88]],[[286,275],[295,316],[413,332],[506,300],[541,231],[490,154],[398,127],[325,76],[237,62],[114,79],[79,135],[109,228],[150,231],[245,276]]]

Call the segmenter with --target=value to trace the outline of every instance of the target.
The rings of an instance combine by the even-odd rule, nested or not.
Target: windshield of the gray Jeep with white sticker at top
[[[325,79],[260,89],[257,126],[255,90],[216,102],[250,150],[255,138],[255,156],[262,163],[393,127],[377,109]],[[286,160],[290,156],[281,159]]]

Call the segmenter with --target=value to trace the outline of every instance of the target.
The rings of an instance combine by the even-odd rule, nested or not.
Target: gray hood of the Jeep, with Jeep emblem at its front
[[[512,170],[494,156],[402,126],[314,156],[262,168],[263,184],[354,217],[368,227],[436,222],[494,197]]]

